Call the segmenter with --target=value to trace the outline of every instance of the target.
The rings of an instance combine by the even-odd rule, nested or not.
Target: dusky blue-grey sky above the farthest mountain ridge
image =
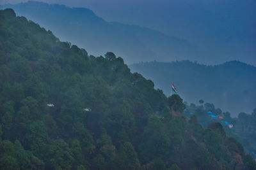
[[[218,59],[256,65],[255,0],[41,0],[93,10],[110,22],[134,24],[184,38]],[[20,3],[1,0],[0,3]]]

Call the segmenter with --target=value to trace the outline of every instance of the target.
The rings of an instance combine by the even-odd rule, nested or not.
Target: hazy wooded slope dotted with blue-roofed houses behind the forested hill
[[[252,153],[256,159],[256,108],[250,115],[241,112],[238,117],[232,118],[229,112],[215,108],[212,103],[204,103],[203,100],[200,100],[199,103],[197,106],[193,103],[187,105],[183,115],[188,118],[195,115],[204,128],[212,123],[220,122],[223,124],[225,132],[229,136],[239,139],[246,148],[246,152]]]

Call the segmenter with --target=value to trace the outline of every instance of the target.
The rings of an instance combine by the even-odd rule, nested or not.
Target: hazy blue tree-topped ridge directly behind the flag
[[[200,99],[214,103],[232,117],[256,108],[256,67],[239,61],[205,66],[196,62],[141,62],[129,66],[132,71],[154,81],[156,88],[170,96],[171,82],[187,102]]]

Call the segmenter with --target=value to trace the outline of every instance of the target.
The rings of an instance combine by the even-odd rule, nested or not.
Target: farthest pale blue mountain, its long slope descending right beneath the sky
[[[117,22],[106,22],[87,8],[68,8],[58,4],[36,1],[6,4],[17,15],[50,29],[61,41],[69,41],[86,48],[92,55],[115,52],[127,64],[159,60],[198,60],[195,46],[189,41],[161,32]]]

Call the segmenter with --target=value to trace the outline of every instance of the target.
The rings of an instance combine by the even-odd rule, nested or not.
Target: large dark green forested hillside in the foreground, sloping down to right
[[[0,169],[256,167],[220,123],[183,117],[179,96],[122,58],[89,56],[11,9],[0,11],[0,82]]]

